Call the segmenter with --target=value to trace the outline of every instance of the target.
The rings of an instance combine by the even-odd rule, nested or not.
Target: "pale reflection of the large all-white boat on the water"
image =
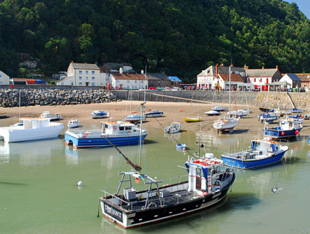
[[[63,140],[32,140],[25,142],[1,142],[0,164],[9,163],[10,158],[19,157],[20,164],[32,166],[34,164],[50,164],[53,151],[64,146]]]

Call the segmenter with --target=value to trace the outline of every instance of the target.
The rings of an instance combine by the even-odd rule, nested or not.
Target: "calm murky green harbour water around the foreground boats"
[[[148,130],[143,173],[158,179],[185,175],[177,167],[188,153],[163,130]],[[212,129],[213,130],[213,129]],[[207,152],[247,149],[247,134],[203,132]],[[189,151],[199,151],[199,133],[174,134]],[[136,146],[120,147],[135,162]],[[200,153],[204,153],[200,149]],[[52,140],[0,142],[0,233],[300,233],[310,226],[310,146],[306,136],[289,143],[282,163],[249,171],[236,170],[227,198],[183,217],[124,230],[100,213],[101,189],[118,186],[118,171],[130,169],[112,147],[73,150],[63,136]],[[76,183],[83,181],[83,187]],[[278,194],[271,191],[282,188]],[[306,233],[307,233],[306,231]]]

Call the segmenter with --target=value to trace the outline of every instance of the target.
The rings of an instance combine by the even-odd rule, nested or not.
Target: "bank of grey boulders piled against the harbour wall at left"
[[[103,89],[0,89],[1,107],[30,105],[76,105],[116,101],[113,92]]]

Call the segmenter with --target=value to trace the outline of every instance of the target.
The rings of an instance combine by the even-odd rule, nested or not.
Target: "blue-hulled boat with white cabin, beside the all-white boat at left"
[[[76,148],[110,147],[113,145],[138,145],[140,137],[147,136],[145,129],[139,129],[132,123],[122,121],[101,122],[101,130],[68,130],[65,132],[65,145],[73,145]]]

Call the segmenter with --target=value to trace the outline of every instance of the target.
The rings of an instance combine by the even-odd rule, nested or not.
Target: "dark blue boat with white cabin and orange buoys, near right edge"
[[[265,127],[264,135],[268,139],[291,138],[300,134],[302,127],[302,120],[286,118],[280,120],[278,127]]]

